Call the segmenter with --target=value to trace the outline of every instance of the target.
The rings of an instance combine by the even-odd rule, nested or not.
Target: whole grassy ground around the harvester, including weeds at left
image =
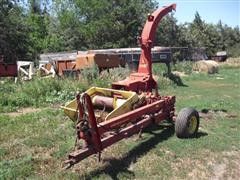
[[[160,74],[158,68],[155,73]],[[153,126],[142,139],[133,136],[106,149],[101,162],[92,156],[67,171],[62,170],[63,161],[73,149],[75,134],[59,105],[88,85],[48,81],[0,86],[0,179],[239,178],[239,66],[224,64],[215,75],[191,73],[182,77],[182,86],[159,79],[161,94],[176,95],[177,111],[192,106],[201,112],[196,138],[178,139],[169,124]],[[110,80],[106,82],[108,86]],[[47,88],[44,97],[39,84]]]

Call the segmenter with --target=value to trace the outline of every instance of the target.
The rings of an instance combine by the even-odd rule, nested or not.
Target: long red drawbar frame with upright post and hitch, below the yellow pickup
[[[84,101],[89,115],[89,132],[91,134],[88,137],[80,136],[81,140],[87,143],[87,146],[69,154],[69,159],[65,161],[69,167],[92,154],[100,153],[104,148],[139,132],[153,123],[160,123],[174,116],[175,97],[166,96],[156,102],[97,124],[90,96],[86,94],[83,98],[85,98]],[[79,107],[84,107],[85,105],[83,104]],[[121,128],[121,126],[129,123],[132,124]]]

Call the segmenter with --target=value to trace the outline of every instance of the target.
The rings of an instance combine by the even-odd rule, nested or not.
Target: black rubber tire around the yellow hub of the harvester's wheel
[[[194,131],[190,132],[188,128],[193,116],[196,117],[197,125]],[[197,110],[195,110],[194,108],[187,107],[179,112],[177,119],[175,121],[175,132],[178,138],[189,138],[196,136],[198,127],[199,127],[199,114]]]

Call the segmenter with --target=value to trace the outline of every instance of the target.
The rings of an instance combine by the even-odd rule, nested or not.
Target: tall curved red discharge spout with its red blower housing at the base
[[[157,91],[157,83],[152,76],[152,56],[154,36],[160,20],[169,12],[176,9],[176,4],[157,9],[148,15],[147,21],[139,38],[141,45],[141,56],[139,60],[138,72],[133,73],[127,79],[112,84],[113,89],[124,89],[135,92]]]

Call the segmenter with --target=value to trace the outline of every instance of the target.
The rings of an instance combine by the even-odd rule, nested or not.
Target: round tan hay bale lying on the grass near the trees
[[[193,66],[193,70],[208,74],[215,74],[218,73],[218,63],[212,60],[197,61]]]

